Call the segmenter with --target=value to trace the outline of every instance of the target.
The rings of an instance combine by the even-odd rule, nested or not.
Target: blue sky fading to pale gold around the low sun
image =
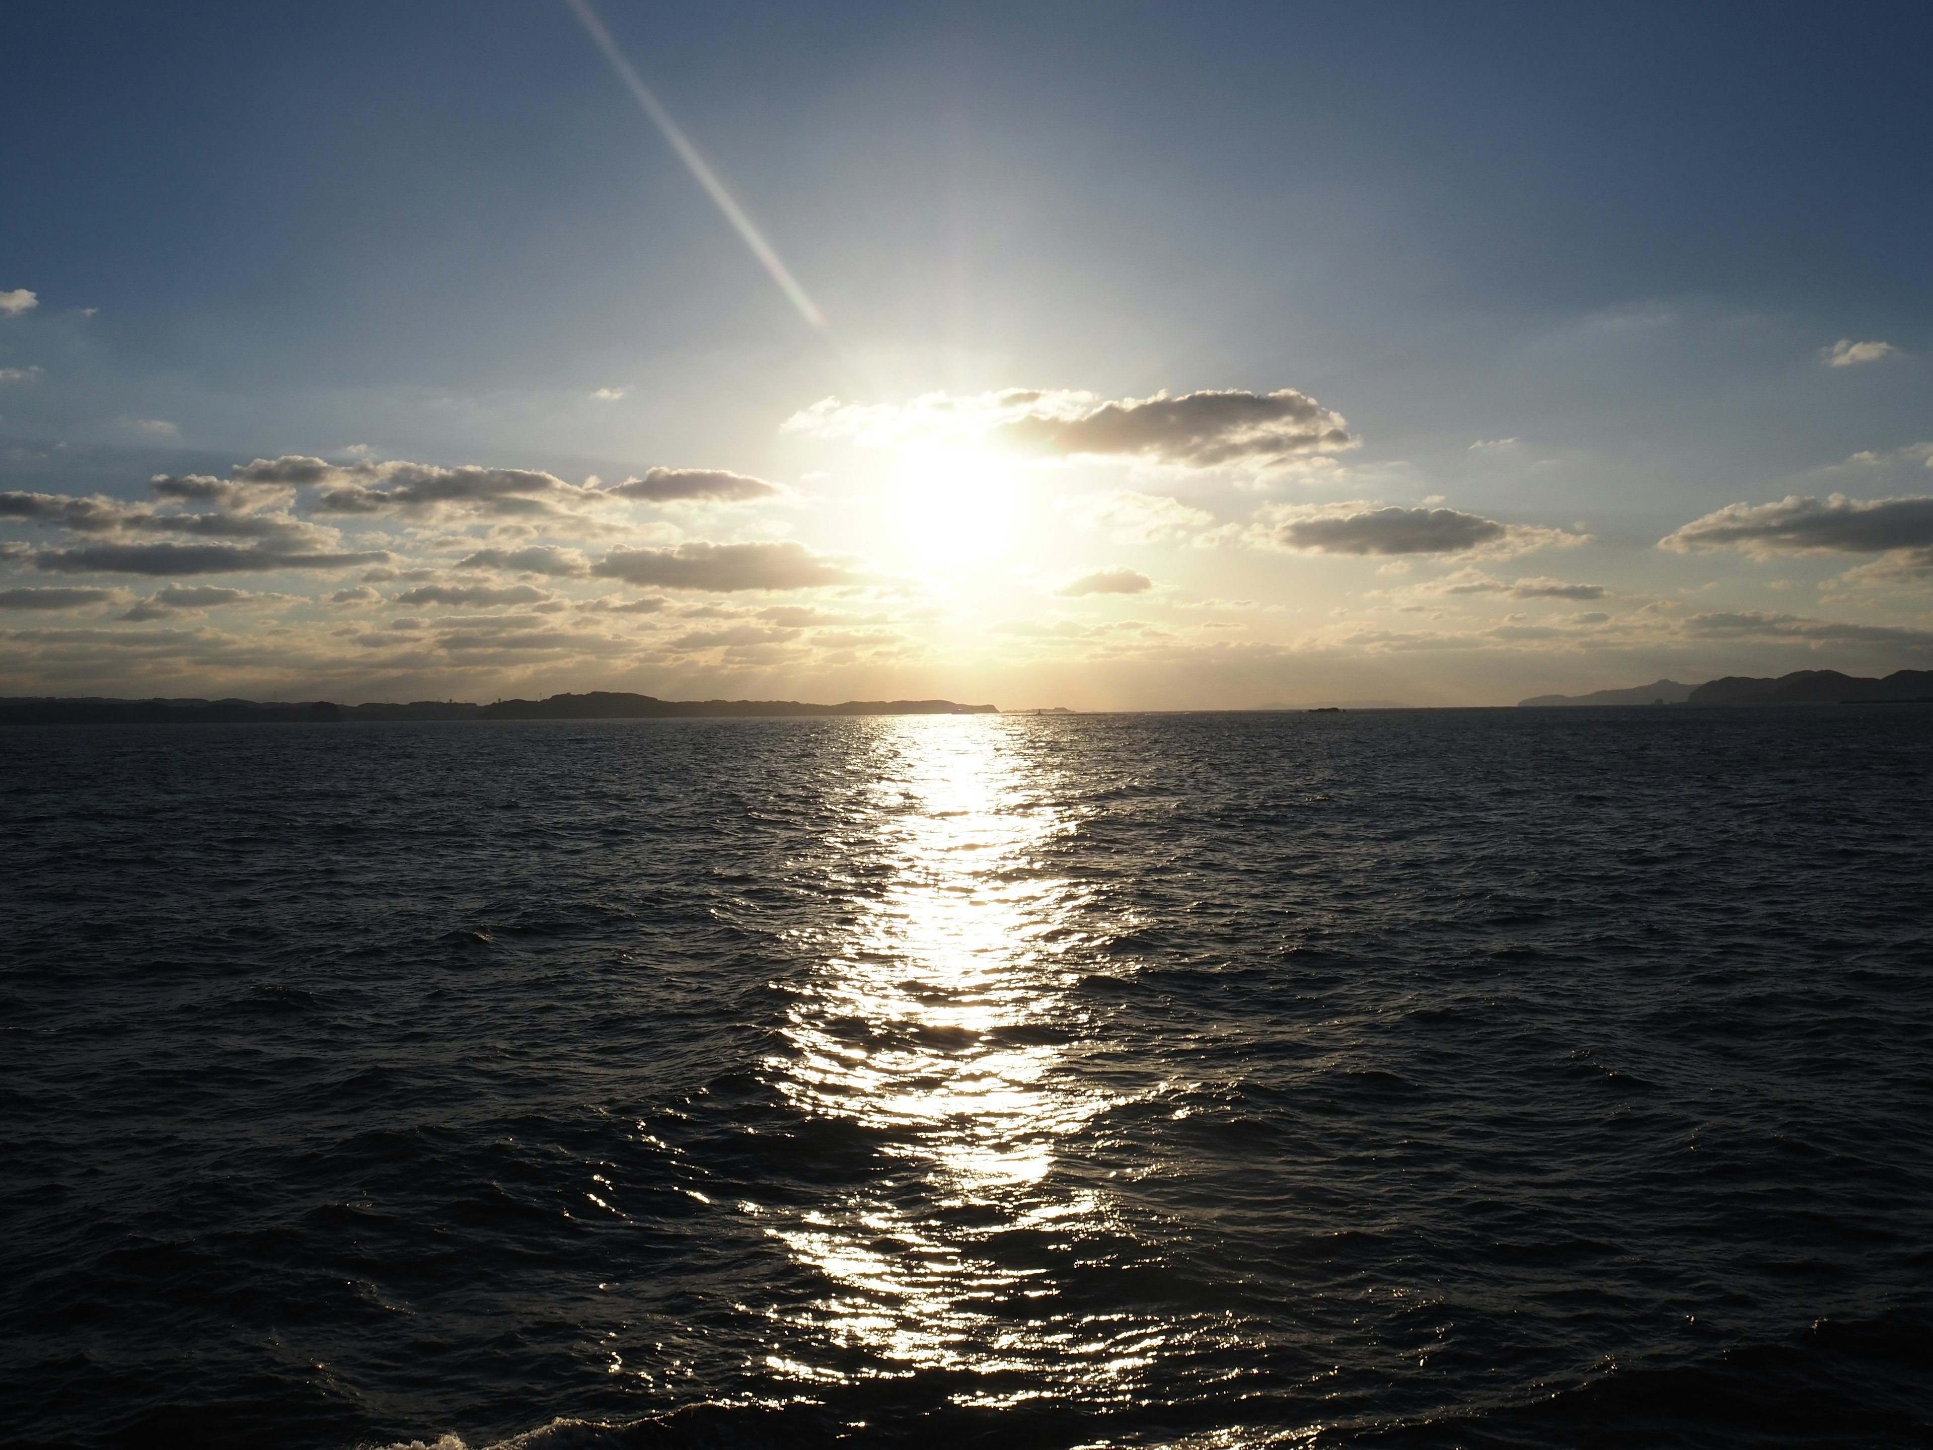
[[[561,0],[15,8],[0,489],[43,503],[0,514],[0,688],[1498,704],[1927,667],[1933,530],[1889,505],[1933,495],[1923,10],[597,10],[827,333]],[[1009,389],[1026,427],[1293,391],[1349,441],[1015,456],[1013,406],[916,406]],[[787,425],[827,398],[891,439]],[[149,483],[286,456],[360,472]],[[570,491],[412,503],[398,460]],[[651,468],[769,491],[603,497]],[[97,495],[81,530],[44,503]],[[211,508],[255,524],[170,530]],[[302,549],[81,553],[263,518]],[[680,565],[781,545],[833,563]],[[518,547],[570,570],[464,563]]]

